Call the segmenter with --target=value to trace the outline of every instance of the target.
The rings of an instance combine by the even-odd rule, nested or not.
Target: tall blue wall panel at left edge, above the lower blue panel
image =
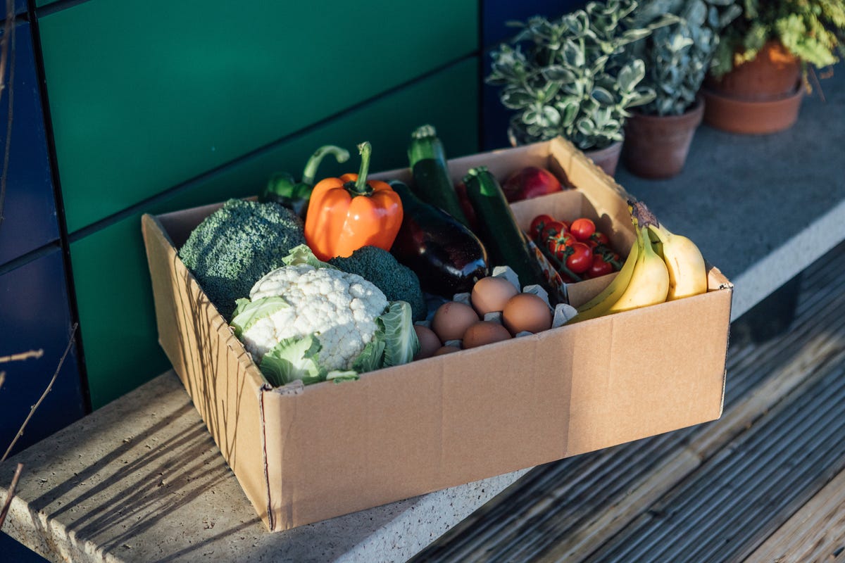
[[[30,24],[18,24],[14,45],[10,143],[6,138],[8,91],[4,90],[0,97],[0,165],[7,143],[10,151],[0,224],[0,264],[56,241],[59,235]]]

